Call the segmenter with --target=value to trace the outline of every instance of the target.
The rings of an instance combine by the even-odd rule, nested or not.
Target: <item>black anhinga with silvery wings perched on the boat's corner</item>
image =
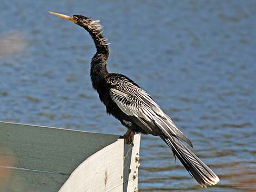
[[[74,22],[84,28],[92,37],[96,53],[90,64],[92,86],[97,91],[100,101],[106,106],[106,112],[117,118],[127,127],[124,138],[131,144],[135,133],[159,136],[178,157],[188,173],[196,179],[201,187],[215,185],[220,181],[218,176],[194,154],[185,143],[192,143],[163,112],[160,106],[137,83],[125,75],[109,73],[107,60],[109,44],[103,36],[100,20],[82,15],[63,15],[49,11],[50,14]]]

